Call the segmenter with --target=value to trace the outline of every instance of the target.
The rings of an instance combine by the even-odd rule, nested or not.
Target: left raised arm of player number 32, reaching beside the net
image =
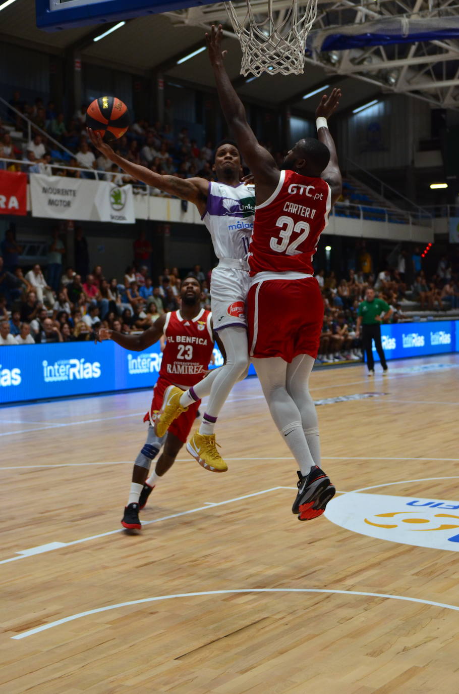
[[[214,68],[221,109],[227,124],[234,133],[238,149],[254,175],[257,204],[260,204],[268,199],[279,183],[279,169],[272,155],[259,144],[248,124],[244,105],[236,94],[223,64],[226,51],[221,49],[222,37],[221,24],[218,28],[212,25],[211,32],[206,34],[209,60]]]

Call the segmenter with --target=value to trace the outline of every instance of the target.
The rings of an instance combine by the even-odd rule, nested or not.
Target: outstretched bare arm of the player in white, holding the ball
[[[98,151],[102,152],[107,159],[126,171],[127,174],[141,180],[146,185],[158,188],[164,193],[176,196],[182,200],[193,203],[198,208],[200,214],[205,213],[207,205],[207,192],[209,181],[205,178],[179,178],[179,176],[162,176],[161,174],[150,171],[147,167],[140,164],[133,164],[127,159],[115,154],[109,144],[103,141],[99,133],[95,133],[91,128],[87,129],[89,139]]]

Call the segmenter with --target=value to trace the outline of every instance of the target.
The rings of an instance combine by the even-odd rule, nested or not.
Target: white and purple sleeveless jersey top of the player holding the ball
[[[207,208],[202,221],[209,230],[219,260],[243,260],[247,256],[254,214],[254,185],[209,183]]]

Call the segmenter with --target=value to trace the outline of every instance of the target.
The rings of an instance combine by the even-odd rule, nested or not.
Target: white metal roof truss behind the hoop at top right
[[[292,0],[275,0],[276,20],[282,19]],[[300,0],[301,3],[301,0]],[[234,3],[241,19],[245,1]],[[254,14],[266,14],[266,0],[251,0]],[[225,33],[234,37],[224,3],[168,12],[174,24],[209,28],[222,23]],[[313,32],[361,25],[376,20],[435,19],[444,28],[459,20],[459,0],[318,0],[318,17]],[[456,24],[457,25],[457,24]],[[383,92],[409,94],[438,108],[459,110],[459,40],[428,40],[415,43],[368,46],[365,49],[323,52],[313,50],[306,62],[329,74],[352,76]]]

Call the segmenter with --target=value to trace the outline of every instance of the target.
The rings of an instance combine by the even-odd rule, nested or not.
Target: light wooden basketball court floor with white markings
[[[184,452],[135,535],[149,393],[1,409],[0,693],[456,694],[458,384],[458,355],[313,372],[340,494],[299,523],[247,380],[220,416],[229,471]]]

